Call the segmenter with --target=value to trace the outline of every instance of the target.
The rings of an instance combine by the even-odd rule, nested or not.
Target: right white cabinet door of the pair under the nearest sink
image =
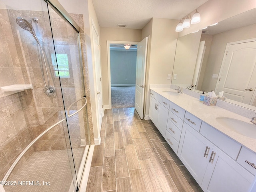
[[[254,176],[214,146],[202,182],[204,192],[247,192]]]

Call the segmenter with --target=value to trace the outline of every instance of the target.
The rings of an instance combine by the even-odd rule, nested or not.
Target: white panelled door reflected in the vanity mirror
[[[225,53],[217,93],[252,104],[256,88],[256,41],[232,44]]]

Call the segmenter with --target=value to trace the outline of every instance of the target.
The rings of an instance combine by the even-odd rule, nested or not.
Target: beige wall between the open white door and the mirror
[[[175,32],[176,20],[152,18],[142,29],[142,38],[150,36],[150,49],[147,61],[144,115],[148,116],[150,84],[170,84],[178,33]],[[150,31],[151,30],[151,31]]]

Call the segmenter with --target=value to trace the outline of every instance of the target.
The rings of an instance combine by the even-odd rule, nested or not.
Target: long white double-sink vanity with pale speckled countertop
[[[204,192],[248,192],[256,175],[256,124],[199,96],[150,86],[149,117]]]

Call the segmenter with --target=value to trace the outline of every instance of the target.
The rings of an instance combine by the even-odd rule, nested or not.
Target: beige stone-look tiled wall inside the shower
[[[54,53],[47,12],[0,9],[0,86],[8,86],[12,84],[33,85],[33,90],[25,90],[9,96],[0,92],[0,180],[20,152],[22,152],[22,150],[41,132],[46,130],[46,128],[62,119],[64,112],[60,82],[58,78],[54,77],[52,68],[48,69],[48,71],[51,72],[50,84],[55,86],[57,94],[54,97],[48,97],[43,92],[44,84],[36,43],[29,32],[23,30],[16,24],[15,19],[18,16],[27,20],[33,17],[38,18],[39,23],[36,25],[33,24],[33,26],[36,26],[34,28],[36,35],[48,57],[46,62],[49,62],[49,64],[51,64],[51,58],[49,58],[50,53]],[[71,32],[68,31],[64,24],[62,25],[63,20],[60,20],[59,18],[57,19],[57,17],[59,16],[56,14],[54,24],[60,25],[60,30],[58,32],[67,32],[67,41],[72,42],[73,39],[68,39]],[[81,28],[83,28],[82,15],[72,14],[72,17]],[[87,116],[90,130],[92,130],[89,82],[88,75],[86,75],[88,74],[88,67],[86,64],[83,32],[80,36],[82,40],[82,57],[84,62],[84,82],[88,100]],[[74,38],[74,34],[71,38]],[[64,45],[61,44],[58,46],[59,48],[64,47]],[[69,47],[70,53],[72,53],[71,45]],[[70,69],[70,71],[75,73],[78,72],[76,67]],[[74,83],[70,84],[70,82],[67,82],[65,84],[64,81],[65,80],[62,80],[64,95],[77,98],[80,97],[75,94],[76,86],[74,87]],[[71,104],[71,101],[68,102],[68,97],[66,97],[64,101],[67,104]],[[83,115],[86,116],[85,111],[83,111],[83,113]],[[86,120],[87,118],[84,119]],[[80,122],[74,124],[73,129],[72,126],[69,127],[72,129],[70,132],[74,133],[74,137],[71,137],[73,139],[72,144],[77,144],[79,146],[81,138],[78,139],[79,134],[77,135],[77,132],[79,132],[79,129],[82,126],[85,126],[86,129],[87,123]],[[66,130],[65,126],[63,127],[62,125],[53,128],[30,148],[29,152],[27,152],[21,162],[29,158],[35,151],[60,150],[67,148],[64,130]],[[86,131],[84,130],[83,132]],[[91,138],[93,138],[93,133],[91,132],[90,134]],[[86,144],[88,144],[88,139],[86,142]]]

